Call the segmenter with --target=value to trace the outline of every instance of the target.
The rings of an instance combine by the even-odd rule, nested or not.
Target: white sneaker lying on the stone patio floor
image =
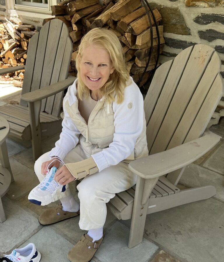
[[[3,255],[0,261],[6,262],[39,262],[41,253],[37,251],[33,243],[29,243],[26,247],[16,248],[10,255]]]

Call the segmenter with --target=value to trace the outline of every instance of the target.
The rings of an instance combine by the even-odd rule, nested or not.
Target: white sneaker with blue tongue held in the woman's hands
[[[52,167],[43,181],[31,190],[28,196],[30,202],[39,206],[46,206],[69,195],[68,190],[66,190],[68,184],[61,185],[54,180],[56,171],[57,168]]]

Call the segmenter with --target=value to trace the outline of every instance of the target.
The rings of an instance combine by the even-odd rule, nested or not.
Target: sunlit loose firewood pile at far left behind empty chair
[[[0,68],[25,65],[29,40],[36,32],[33,25],[22,24],[17,17],[0,21]],[[0,81],[21,87],[23,75],[24,70],[15,71],[0,76]]]

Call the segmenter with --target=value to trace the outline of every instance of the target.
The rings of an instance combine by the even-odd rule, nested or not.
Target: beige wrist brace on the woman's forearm
[[[70,171],[72,176],[74,176],[75,180],[92,175],[98,171],[97,164],[92,157],[76,163],[68,163],[65,164],[65,166]]]

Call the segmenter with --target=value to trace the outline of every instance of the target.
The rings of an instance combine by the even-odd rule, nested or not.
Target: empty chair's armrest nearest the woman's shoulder
[[[25,93],[21,95],[21,99],[28,102],[36,102],[47,98],[51,95],[55,95],[67,87],[71,86],[75,81],[76,77],[68,77],[67,79],[60,81],[58,83],[52,84],[50,86],[46,86],[44,88],[31,91],[29,93]]]

